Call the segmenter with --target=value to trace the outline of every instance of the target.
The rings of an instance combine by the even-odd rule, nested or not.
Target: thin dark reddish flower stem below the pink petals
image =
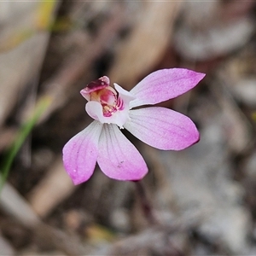
[[[137,189],[137,195],[139,195],[141,206],[143,209],[143,213],[145,217],[148,219],[148,223],[150,224],[157,224],[158,221],[154,216],[152,206],[150,202],[148,201],[148,197],[146,195],[145,188],[143,186],[143,183],[141,181],[134,181],[136,189]]]

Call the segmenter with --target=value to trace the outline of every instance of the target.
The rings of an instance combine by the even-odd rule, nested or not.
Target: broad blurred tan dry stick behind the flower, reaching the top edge
[[[120,44],[110,80],[131,89],[143,74],[159,63],[172,38],[172,29],[183,1],[145,1],[140,19],[129,38]],[[125,74],[124,71],[125,70]]]

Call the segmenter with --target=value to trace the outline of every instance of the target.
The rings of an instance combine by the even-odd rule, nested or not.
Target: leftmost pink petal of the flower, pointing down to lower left
[[[97,121],[92,122],[63,148],[65,169],[76,185],[87,181],[95,169],[102,126]]]

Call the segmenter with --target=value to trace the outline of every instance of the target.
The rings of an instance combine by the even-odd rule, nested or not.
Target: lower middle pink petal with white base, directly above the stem
[[[116,125],[103,126],[98,164],[108,177],[118,180],[139,180],[148,172],[142,155]]]

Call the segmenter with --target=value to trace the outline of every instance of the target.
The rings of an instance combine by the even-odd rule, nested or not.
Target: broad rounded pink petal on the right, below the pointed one
[[[199,140],[199,132],[191,119],[171,109],[134,109],[130,117],[125,129],[154,148],[181,150]]]

